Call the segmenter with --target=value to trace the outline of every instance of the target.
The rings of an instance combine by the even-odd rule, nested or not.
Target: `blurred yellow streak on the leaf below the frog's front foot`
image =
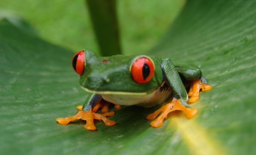
[[[172,122],[172,123],[171,123]],[[223,148],[209,138],[206,130],[193,119],[174,117],[169,127],[175,123],[193,155],[224,155]]]

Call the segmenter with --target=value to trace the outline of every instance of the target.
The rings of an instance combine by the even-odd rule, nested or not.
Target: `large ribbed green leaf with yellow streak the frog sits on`
[[[145,119],[158,107],[122,107],[117,124],[81,121],[68,126],[86,94],[71,68],[72,52],[0,22],[0,149],[3,154],[246,154],[256,152],[256,2],[189,0],[175,23],[147,54],[201,67],[212,90],[173,113],[163,127]]]

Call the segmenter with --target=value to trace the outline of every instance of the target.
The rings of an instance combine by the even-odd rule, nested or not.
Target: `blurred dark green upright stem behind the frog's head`
[[[116,0],[86,0],[102,56],[121,54]]]

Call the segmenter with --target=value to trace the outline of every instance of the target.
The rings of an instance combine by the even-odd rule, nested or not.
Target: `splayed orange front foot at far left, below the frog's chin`
[[[109,113],[99,114],[94,113],[92,110],[88,111],[79,111],[76,115],[66,118],[57,118],[56,121],[61,125],[67,125],[70,121],[75,121],[77,119],[82,119],[86,121],[84,128],[87,130],[96,130],[93,119],[98,119],[99,121],[103,121],[105,125],[112,126],[115,125],[116,122],[108,119],[106,116],[113,116],[115,113],[113,111]]]

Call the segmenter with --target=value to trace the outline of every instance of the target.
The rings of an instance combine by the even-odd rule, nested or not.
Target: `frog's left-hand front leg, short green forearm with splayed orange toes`
[[[102,120],[105,125],[107,126],[112,126],[115,125],[116,122],[108,119],[106,116],[113,116],[114,112],[109,112],[109,113],[104,113],[104,114],[99,114],[99,113],[94,113],[92,110],[92,107],[94,104],[99,103],[102,100],[102,96],[98,94],[90,94],[82,109],[76,113],[76,115],[67,117],[67,118],[57,118],[56,121],[59,124],[62,125],[67,125],[70,121],[75,121],[77,119],[82,119],[86,121],[86,124],[84,125],[85,129],[87,130],[96,130],[96,127],[94,125],[93,120],[98,119]]]

